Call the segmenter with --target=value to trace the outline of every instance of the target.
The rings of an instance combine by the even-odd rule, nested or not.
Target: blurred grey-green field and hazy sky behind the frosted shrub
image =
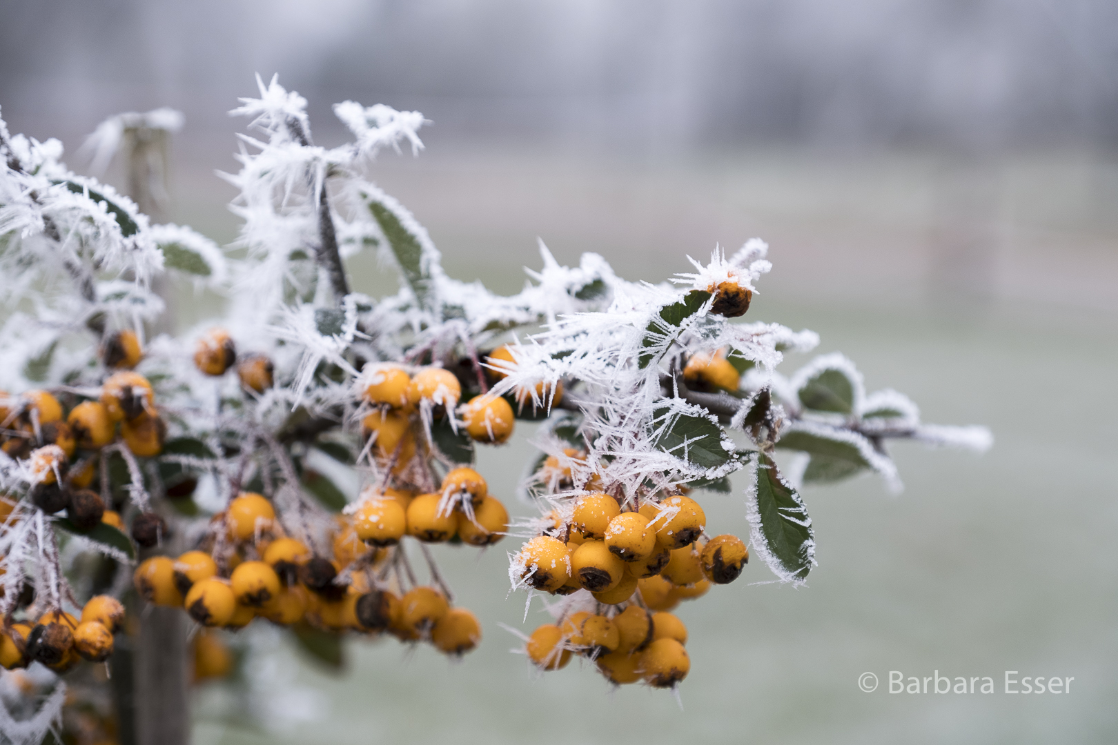
[[[428,150],[371,178],[430,231],[447,270],[512,293],[538,267],[605,256],[660,281],[759,236],[774,270],[749,318],[813,328],[869,390],[927,421],[983,423],[978,457],[900,443],[906,490],[870,477],[804,493],[818,566],[800,590],[737,583],[678,611],[692,671],[671,695],[616,691],[577,661],[540,677],[502,630],[505,551],[444,547],[484,625],[461,663],[394,640],[325,672],[254,625],[250,695],[195,701],[200,745],[238,743],[1110,743],[1118,732],[1118,75],[1114,3],[142,0],[7,3],[0,106],[68,160],[119,111],[171,105],[167,218],[221,242],[237,225],[234,132],[252,74],[329,105],[424,111]],[[44,42],[49,38],[49,44]],[[121,173],[110,181],[122,184]],[[357,288],[397,286],[371,256]],[[182,323],[210,313],[187,296]],[[790,372],[806,357],[786,361]],[[485,449],[512,512],[531,448]],[[743,485],[703,499],[746,534]],[[760,583],[760,584],[750,584]],[[890,695],[890,670],[989,676],[991,695]],[[1074,677],[1002,693],[1006,670]],[[859,690],[874,672],[877,691]],[[252,716],[246,716],[252,715]],[[255,722],[255,724],[253,722]]]

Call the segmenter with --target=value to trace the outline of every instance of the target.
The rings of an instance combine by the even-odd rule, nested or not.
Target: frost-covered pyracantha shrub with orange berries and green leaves
[[[690,667],[680,600],[737,579],[750,550],[804,582],[815,536],[798,485],[875,471],[896,487],[891,439],[989,443],[922,423],[900,393],[868,394],[841,355],[781,374],[784,352],[818,338],[743,319],[770,269],[757,239],[661,285],[593,254],[559,266],[542,245],[517,295],[453,279],[366,176],[380,150],[421,147],[420,114],[338,104],[353,140],[326,149],[302,97],[259,88],[234,112],[252,134],[225,176],[243,221],[229,250],[151,225],[69,171],[58,142],[0,123],[6,668],[108,658],[130,585],[202,627],[259,617],[320,651],[353,632],[458,656],[482,630],[429,546],[514,534],[528,541],[510,554],[513,588],[558,598],[556,622],[525,637],[537,666],[580,653],[615,684],[674,686]],[[351,290],[345,261],[362,251],[399,269],[398,293]],[[164,275],[225,295],[222,317],[150,337]],[[540,516],[510,526],[474,450],[525,420],[541,423],[540,455],[520,496]],[[797,453],[785,474],[780,450]],[[331,476],[347,469],[363,484],[352,502]],[[708,532],[695,499],[739,470],[749,548]],[[117,571],[74,580],[87,552]],[[198,678],[228,669],[214,632],[195,649]]]

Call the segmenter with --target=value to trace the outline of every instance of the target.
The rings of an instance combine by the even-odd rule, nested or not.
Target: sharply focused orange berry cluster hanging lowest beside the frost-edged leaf
[[[529,637],[529,658],[556,670],[574,652],[594,660],[614,684],[674,686],[691,662],[686,628],[667,611],[712,583],[738,579],[749,560],[746,544],[732,535],[708,539],[702,507],[682,494],[619,503],[591,491],[559,502],[512,562],[515,584],[570,595],[559,622]]]

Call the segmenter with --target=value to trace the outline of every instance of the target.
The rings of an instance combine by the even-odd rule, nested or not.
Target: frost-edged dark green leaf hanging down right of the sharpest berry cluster
[[[767,550],[769,565],[778,576],[803,581],[815,557],[815,534],[803,499],[788,486],[776,464],[765,453],[757,453],[757,513],[754,539]]]

